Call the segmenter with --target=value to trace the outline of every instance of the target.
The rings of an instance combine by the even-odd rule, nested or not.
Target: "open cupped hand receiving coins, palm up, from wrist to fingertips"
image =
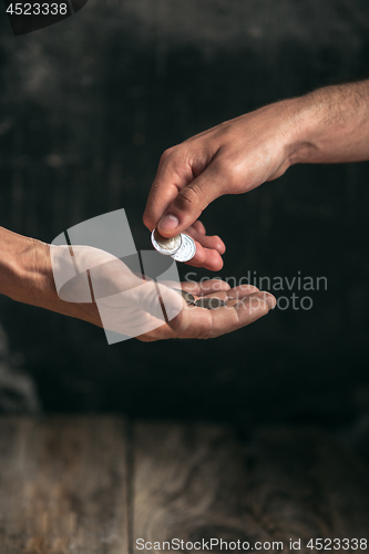
[[[253,286],[230,289],[218,279],[182,285],[154,281],[99,248],[52,246],[50,252],[58,295],[41,295],[37,305],[142,341],[218,337],[255,321],[275,306],[271,295]],[[181,287],[195,298],[221,298],[226,306],[214,310],[187,306],[173,290]]]

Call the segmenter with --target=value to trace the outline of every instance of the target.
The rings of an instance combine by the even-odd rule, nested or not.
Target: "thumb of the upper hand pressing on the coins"
[[[198,219],[202,212],[224,192],[219,173],[211,164],[197,178],[182,188],[157,224],[163,236],[175,236]]]

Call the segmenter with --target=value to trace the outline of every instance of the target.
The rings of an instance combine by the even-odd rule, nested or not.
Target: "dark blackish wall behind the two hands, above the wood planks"
[[[150,248],[142,214],[166,147],[368,78],[368,62],[367,0],[90,0],[17,39],[3,18],[0,223],[51,242],[124,207]],[[275,310],[212,341],[109,347],[99,328],[1,298],[43,409],[369,425],[368,178],[367,163],[295,166],[204,214],[227,245],[218,276],[326,276],[308,311]]]

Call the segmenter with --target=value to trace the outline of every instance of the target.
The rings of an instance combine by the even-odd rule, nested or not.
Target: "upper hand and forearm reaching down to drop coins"
[[[201,223],[224,194],[252,191],[297,163],[369,160],[369,81],[327,86],[217,125],[164,152],[144,224],[172,237]],[[196,223],[195,223],[196,222]],[[222,267],[211,237],[198,239],[191,265]],[[218,237],[216,237],[218,239]],[[219,240],[219,239],[218,239]]]

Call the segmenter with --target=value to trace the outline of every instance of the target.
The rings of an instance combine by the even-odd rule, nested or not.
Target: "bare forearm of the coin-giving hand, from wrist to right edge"
[[[290,163],[369,160],[369,80],[293,99]]]

